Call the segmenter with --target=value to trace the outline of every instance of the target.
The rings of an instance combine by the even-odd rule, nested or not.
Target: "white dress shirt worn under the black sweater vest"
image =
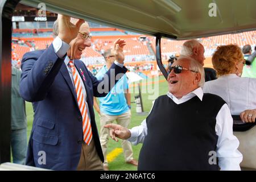
[[[170,92],[167,93],[176,104],[182,104],[187,102],[193,97],[199,97],[202,101],[203,90],[197,88],[193,92],[177,99]],[[154,105],[154,104],[153,104]],[[137,145],[138,143],[143,143],[144,138],[147,136],[147,123],[146,119],[143,120],[140,126],[133,127],[130,129],[131,137],[129,140],[132,144]],[[228,105],[224,104],[216,116],[216,126],[215,126],[217,140],[217,158],[218,166],[221,170],[241,170],[240,163],[242,162],[242,154],[237,150],[239,146],[239,141],[237,137],[233,135],[233,119],[230,114]],[[210,156],[209,156],[210,157]]]

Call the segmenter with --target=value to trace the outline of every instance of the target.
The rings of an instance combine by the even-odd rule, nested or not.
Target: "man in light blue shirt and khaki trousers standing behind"
[[[104,76],[104,74],[108,71],[108,69],[115,60],[114,52],[111,49],[105,51],[104,57],[106,60],[106,65],[104,65],[97,73],[97,79],[101,79]],[[131,95],[129,93],[129,85],[127,83],[126,75],[124,75],[117,82],[117,84],[115,84],[115,86],[110,90],[107,96],[98,99],[100,100],[100,106],[98,106],[97,100],[94,97],[94,108],[100,114],[100,142],[102,152],[104,154],[104,169],[109,170],[108,161],[106,159],[107,144],[109,140],[109,129],[105,129],[103,126],[108,123],[113,123],[114,121],[116,121],[119,125],[123,127],[127,127],[130,124]],[[127,140],[123,140],[122,147],[126,163],[138,166],[137,160],[133,159],[133,150],[131,148],[131,143]]]

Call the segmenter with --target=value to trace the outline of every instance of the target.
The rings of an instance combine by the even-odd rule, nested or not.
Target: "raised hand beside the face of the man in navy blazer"
[[[79,19],[76,24],[73,24],[70,22],[70,16],[61,14],[58,14],[57,21],[59,26],[58,36],[68,44],[76,38],[81,24],[85,22],[83,19]]]

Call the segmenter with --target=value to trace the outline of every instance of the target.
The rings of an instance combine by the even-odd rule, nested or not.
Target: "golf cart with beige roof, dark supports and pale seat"
[[[0,163],[10,161],[11,28],[13,12],[18,3],[42,11],[66,14],[110,27],[155,36],[156,60],[165,78],[167,72],[161,60],[162,38],[187,40],[256,30],[254,0],[2,0],[0,2]],[[256,168],[255,126],[245,125],[234,125],[236,135],[242,139],[240,142],[244,143],[240,146],[240,151],[245,152],[241,166]],[[250,145],[247,145],[249,140]]]

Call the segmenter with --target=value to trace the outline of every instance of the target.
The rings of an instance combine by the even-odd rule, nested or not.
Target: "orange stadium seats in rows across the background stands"
[[[47,30],[49,31],[49,30]],[[16,30],[16,32],[20,32]],[[92,47],[86,48],[82,54],[83,60],[86,64],[99,64],[104,63],[104,57],[102,57],[102,49],[106,50],[113,47],[114,41],[117,39],[117,36],[105,36],[102,37],[93,37]],[[147,44],[151,44],[151,48],[155,53],[155,37],[146,36],[146,41],[140,41],[139,36],[122,36],[122,39],[126,40],[126,46],[123,49],[123,52],[126,56],[126,61],[142,61],[142,60],[154,60],[155,57],[150,55],[150,50],[147,47]],[[13,38],[14,40],[15,38]],[[35,39],[35,40],[34,40]],[[15,39],[16,40],[16,39]],[[51,44],[53,38],[22,38],[22,40],[34,40],[36,49],[45,49]],[[212,56],[212,53],[220,45],[226,44],[237,44],[238,46],[244,46],[245,44],[250,44],[251,46],[255,45],[256,40],[256,31],[243,32],[241,34],[229,34],[229,35],[220,35],[212,36],[209,38],[200,38],[197,39],[205,47],[205,57]],[[184,40],[176,41],[170,39],[162,39],[162,59],[168,59],[168,56],[174,55],[177,52],[181,51],[181,46],[184,43]],[[15,44],[16,47],[13,48],[13,51],[18,55],[18,58],[21,59],[23,54],[30,51],[30,47],[20,46]],[[30,44],[28,44],[30,46]],[[150,48],[150,49],[151,49]]]

